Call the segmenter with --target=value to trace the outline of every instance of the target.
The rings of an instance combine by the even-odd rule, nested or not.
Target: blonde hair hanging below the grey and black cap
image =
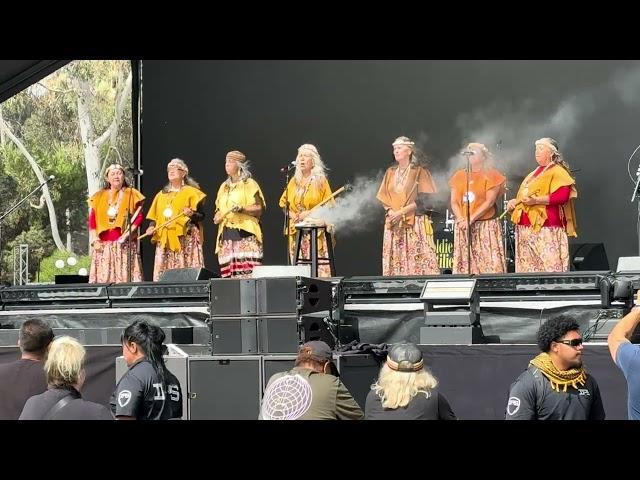
[[[406,407],[418,393],[429,398],[437,385],[438,380],[425,368],[417,372],[396,372],[385,363],[371,390],[380,397],[384,408],[398,408]]]

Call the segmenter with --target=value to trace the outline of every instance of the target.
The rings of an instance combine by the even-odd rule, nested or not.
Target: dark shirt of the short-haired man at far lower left
[[[0,364],[0,420],[17,420],[27,400],[46,389],[42,362],[20,359]]]

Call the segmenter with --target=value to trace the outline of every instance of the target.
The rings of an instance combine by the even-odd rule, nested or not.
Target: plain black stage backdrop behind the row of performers
[[[612,93],[612,78],[638,65],[542,60],[145,61],[141,163],[146,205],[166,181],[167,162],[183,158],[208,194],[205,259],[208,268],[217,270],[211,212],[225,179],[225,153],[241,150],[252,161],[267,200],[265,263],[284,264],[279,169],[295,159],[301,144],[318,147],[336,189],[356,175],[374,175],[388,166],[391,142],[399,135],[424,143],[432,171],[446,169],[448,158],[469,140],[468,131],[459,127],[460,115],[482,109],[489,112],[488,125],[504,120],[504,112],[526,111],[531,120],[526,120],[529,113],[516,117],[522,125],[514,128],[522,133],[503,137],[503,148],[528,149],[530,171],[536,166],[533,141],[543,136],[540,132],[563,142],[566,159],[579,169],[577,241],[604,242],[615,268],[619,256],[637,254],[627,159],[638,143],[640,118],[637,104]],[[571,107],[558,110],[565,101]],[[496,104],[502,106],[491,107]],[[549,121],[548,128],[540,118]],[[633,172],[636,166],[632,164]],[[520,180],[513,178],[513,186]],[[438,186],[447,189],[446,183]],[[381,273],[381,217],[364,232],[339,232],[338,275]],[[146,278],[153,268],[149,245],[145,241]]]

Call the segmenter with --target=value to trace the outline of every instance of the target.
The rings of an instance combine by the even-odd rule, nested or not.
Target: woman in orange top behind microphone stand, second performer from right
[[[503,192],[506,178],[491,165],[491,152],[484,144],[470,143],[467,151],[470,152],[471,168],[468,178],[466,169],[463,169],[456,171],[449,180],[451,210],[456,218],[453,273],[469,273],[469,270],[473,274],[505,273],[504,244],[496,202]]]

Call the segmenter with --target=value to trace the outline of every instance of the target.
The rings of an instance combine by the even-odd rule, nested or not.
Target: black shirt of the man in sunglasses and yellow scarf
[[[604,420],[600,389],[587,374],[586,383],[558,392],[538,367],[530,365],[511,385],[507,420]]]

